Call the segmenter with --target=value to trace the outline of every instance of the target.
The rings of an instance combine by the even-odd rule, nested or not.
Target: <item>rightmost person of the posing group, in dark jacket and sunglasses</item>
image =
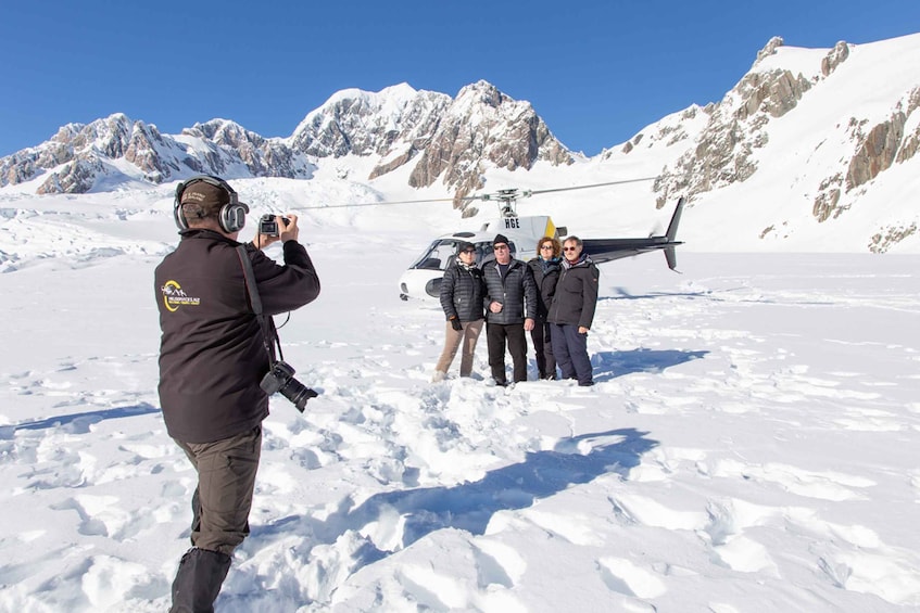
[[[601,272],[582,253],[578,237],[563,243],[563,270],[556,282],[556,295],[550,306],[553,353],[563,379],[578,379],[578,384],[594,385],[591,359],[588,357],[588,331],[597,306],[597,281]]]

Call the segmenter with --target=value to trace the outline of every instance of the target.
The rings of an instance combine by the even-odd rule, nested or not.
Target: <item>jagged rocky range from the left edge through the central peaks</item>
[[[415,162],[409,184],[440,178],[455,190],[458,204],[482,186],[488,164],[514,170],[538,159],[572,161],[529,103],[486,81],[464,88],[456,100],[401,85],[378,93],[341,91],[288,139],[266,139],[225,119],[177,136],[123,114],[71,124],[48,142],[0,159],[0,187],[51,173],[41,193],[85,192],[100,176],[123,173],[113,164],[117,159],[137,168],[129,178],[151,183],[201,173],[239,176],[241,168],[242,176],[308,178],[311,161],[343,155],[378,156],[370,178]]]

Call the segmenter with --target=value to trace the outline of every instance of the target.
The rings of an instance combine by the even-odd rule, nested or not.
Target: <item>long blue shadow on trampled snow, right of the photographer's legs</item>
[[[601,475],[617,473],[628,478],[641,456],[658,445],[646,434],[634,429],[583,434],[559,442],[553,450],[528,452],[522,462],[490,471],[477,482],[377,494],[314,525],[314,534],[331,542],[346,529],[361,529],[395,513],[405,519],[398,549],[446,527],[481,535],[499,511],[525,509]]]

